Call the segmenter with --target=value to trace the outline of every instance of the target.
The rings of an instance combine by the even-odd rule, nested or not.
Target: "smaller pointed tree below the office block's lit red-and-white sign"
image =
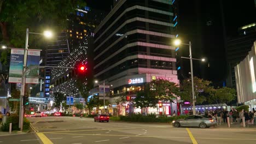
[[[145,91],[137,93],[134,101],[136,107],[146,108],[146,115],[148,113],[147,107],[156,107],[156,104],[158,104],[158,99],[150,92],[150,86],[148,84],[146,85]]]

